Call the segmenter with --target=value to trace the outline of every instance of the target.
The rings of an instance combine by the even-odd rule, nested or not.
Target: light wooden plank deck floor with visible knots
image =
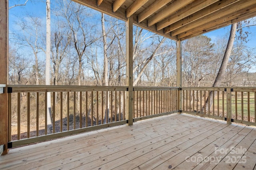
[[[251,169],[256,129],[188,115],[97,130],[11,149],[0,169]]]

